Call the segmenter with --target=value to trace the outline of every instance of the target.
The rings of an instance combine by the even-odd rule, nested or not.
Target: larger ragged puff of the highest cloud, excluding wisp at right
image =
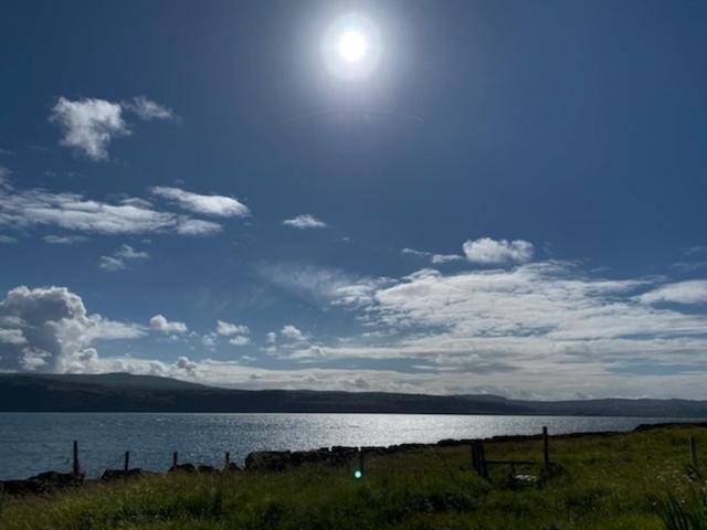
[[[60,97],[52,108],[50,121],[61,127],[62,146],[92,160],[106,160],[110,141],[130,134],[123,119],[120,105],[105,99],[84,98],[72,102]]]

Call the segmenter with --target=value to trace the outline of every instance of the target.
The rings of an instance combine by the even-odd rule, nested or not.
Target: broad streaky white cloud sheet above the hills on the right
[[[460,380],[451,383],[453,373],[465,373],[474,389],[545,396],[571,396],[578,373],[588,395],[636,391],[640,373],[614,373],[629,361],[659,363],[680,395],[676,371],[707,371],[707,316],[647,306],[643,300],[655,298],[652,279],[608,279],[569,262],[455,274],[421,269],[398,279],[285,271],[278,271],[281,285],[302,297],[310,289],[324,310],[351,311],[366,330],[287,352],[303,362],[394,359],[403,371],[435,371],[450,391],[469,391]],[[685,301],[685,293],[690,301],[701,299],[693,284],[679,292]],[[677,299],[674,289],[671,298]]]

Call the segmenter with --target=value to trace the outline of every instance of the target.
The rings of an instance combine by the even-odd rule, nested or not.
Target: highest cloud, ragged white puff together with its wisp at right
[[[62,130],[60,145],[98,161],[108,159],[108,147],[114,139],[131,134],[124,117],[125,110],[136,114],[143,120],[176,119],[170,108],[145,96],[135,97],[127,103],[60,97],[49,119]]]

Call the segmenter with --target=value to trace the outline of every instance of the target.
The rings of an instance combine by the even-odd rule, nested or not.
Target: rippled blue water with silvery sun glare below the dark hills
[[[72,441],[80,442],[88,476],[119,468],[125,451],[131,467],[167,469],[180,462],[221,465],[231,452],[242,463],[252,451],[313,449],[333,445],[431,443],[502,434],[630,431],[672,420],[569,416],[456,416],[397,414],[88,414],[0,413],[0,479],[48,469],[70,470]]]

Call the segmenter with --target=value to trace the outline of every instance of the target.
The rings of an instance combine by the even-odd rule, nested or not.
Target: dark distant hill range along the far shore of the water
[[[707,417],[707,401],[229,390],[151,375],[0,374],[0,412],[312,412]]]

